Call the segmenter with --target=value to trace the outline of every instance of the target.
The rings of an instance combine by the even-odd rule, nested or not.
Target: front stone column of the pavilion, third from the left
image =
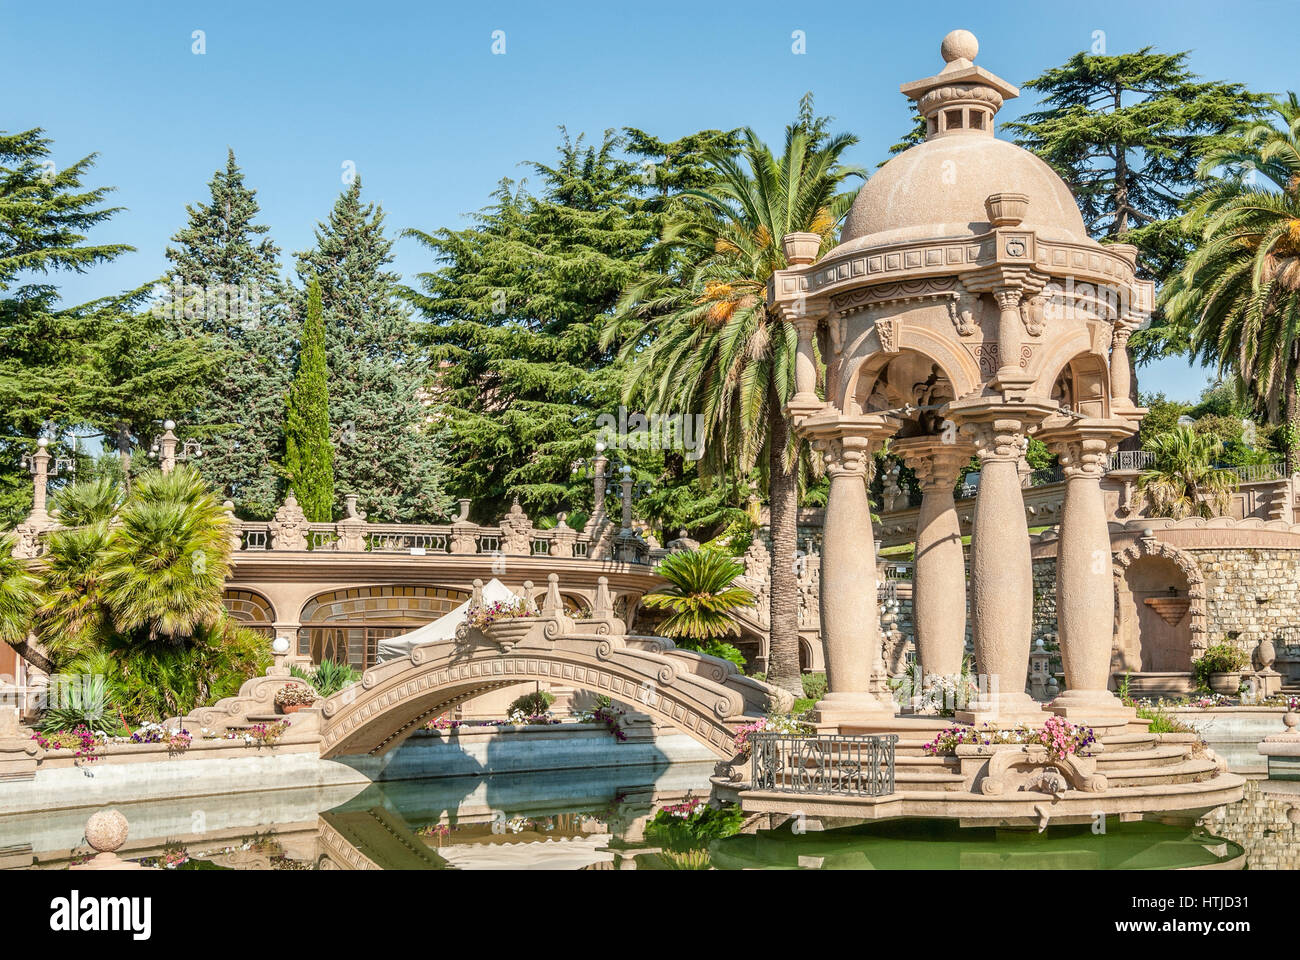
[[[979,492],[971,531],[971,639],[980,692],[963,723],[1037,723],[1043,709],[1024,692],[1034,627],[1034,570],[1019,462],[1028,431],[1054,406],[1045,402],[958,401],[949,416],[975,444]]]

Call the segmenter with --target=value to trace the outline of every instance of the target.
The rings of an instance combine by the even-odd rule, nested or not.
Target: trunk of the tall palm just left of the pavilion
[[[775,392],[768,406],[772,434],[768,440],[768,502],[772,529],[772,591],[767,648],[767,682],[803,696],[800,673],[798,578],[794,572],[794,550],[798,545],[798,462],[785,467],[785,445],[790,421],[780,408]]]

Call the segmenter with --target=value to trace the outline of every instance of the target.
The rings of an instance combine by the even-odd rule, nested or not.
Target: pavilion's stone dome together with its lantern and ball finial
[[[866,182],[832,252],[988,233],[984,200],[993,194],[1027,196],[1022,225],[1045,239],[1087,241],[1065,182],[1034,153],[993,137],[994,114],[1020,91],[972,62],[979,40],[968,30],[948,34],[940,53],[940,73],[901,87],[926,117],[926,142]]]

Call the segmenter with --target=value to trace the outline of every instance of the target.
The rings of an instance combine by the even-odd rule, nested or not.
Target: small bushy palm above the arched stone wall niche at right
[[[1228,470],[1216,470],[1214,458],[1223,441],[1191,427],[1175,427],[1150,440],[1156,462],[1138,477],[1138,489],[1147,494],[1154,516],[1222,516],[1232,501],[1236,477]]]

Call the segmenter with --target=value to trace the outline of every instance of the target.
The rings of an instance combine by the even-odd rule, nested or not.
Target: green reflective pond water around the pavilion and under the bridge
[[[1244,851],[1248,865],[1268,869],[1300,846],[1284,805],[1273,809],[1257,788],[1196,827],[1141,821],[1112,822],[1105,835],[1088,826],[1039,834],[914,820],[738,834],[738,812],[699,812],[710,773],[673,764],[124,804],[130,836],[120,853],[181,870],[653,870],[1169,869]],[[0,818],[0,864],[60,869],[84,859],[86,816]]]

